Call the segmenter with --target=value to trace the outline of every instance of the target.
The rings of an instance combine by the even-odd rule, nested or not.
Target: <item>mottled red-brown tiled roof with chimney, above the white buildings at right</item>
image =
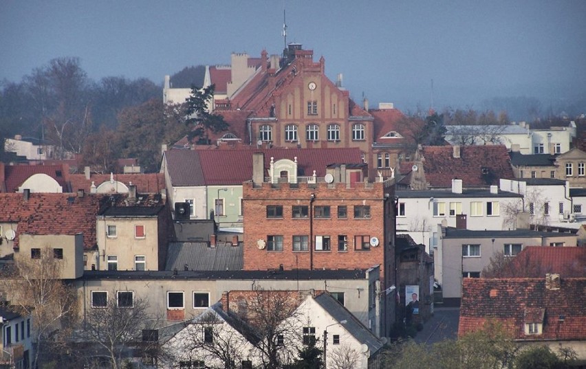
[[[499,179],[514,179],[506,146],[425,146],[422,154],[426,181],[431,188],[452,186],[452,179],[462,179],[465,188],[498,185]]]

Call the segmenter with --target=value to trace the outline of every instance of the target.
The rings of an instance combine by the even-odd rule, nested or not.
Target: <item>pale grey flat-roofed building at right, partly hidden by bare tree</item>
[[[442,286],[444,303],[458,304],[462,297],[462,282],[479,278],[497,253],[507,257],[517,255],[527,246],[572,247],[576,234],[537,232],[532,230],[472,231],[439,226],[441,234],[433,247],[435,280]]]

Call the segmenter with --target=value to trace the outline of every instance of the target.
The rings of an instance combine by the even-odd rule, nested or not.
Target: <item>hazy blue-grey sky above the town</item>
[[[584,0],[1,0],[0,81],[75,56],[93,80],[229,64],[232,52],[325,58],[350,96],[403,111],[586,96]]]

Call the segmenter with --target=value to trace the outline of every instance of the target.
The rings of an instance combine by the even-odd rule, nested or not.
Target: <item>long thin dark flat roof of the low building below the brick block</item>
[[[325,280],[364,279],[366,270],[285,270],[285,271],[84,271],[85,280]]]

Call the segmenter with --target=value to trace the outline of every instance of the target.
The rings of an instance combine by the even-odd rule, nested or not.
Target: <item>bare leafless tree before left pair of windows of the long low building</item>
[[[83,321],[83,337],[107,352],[111,368],[122,368],[124,352],[142,341],[142,329],[155,322],[146,313],[146,300],[133,298],[130,291],[119,291],[103,309],[90,309]]]

